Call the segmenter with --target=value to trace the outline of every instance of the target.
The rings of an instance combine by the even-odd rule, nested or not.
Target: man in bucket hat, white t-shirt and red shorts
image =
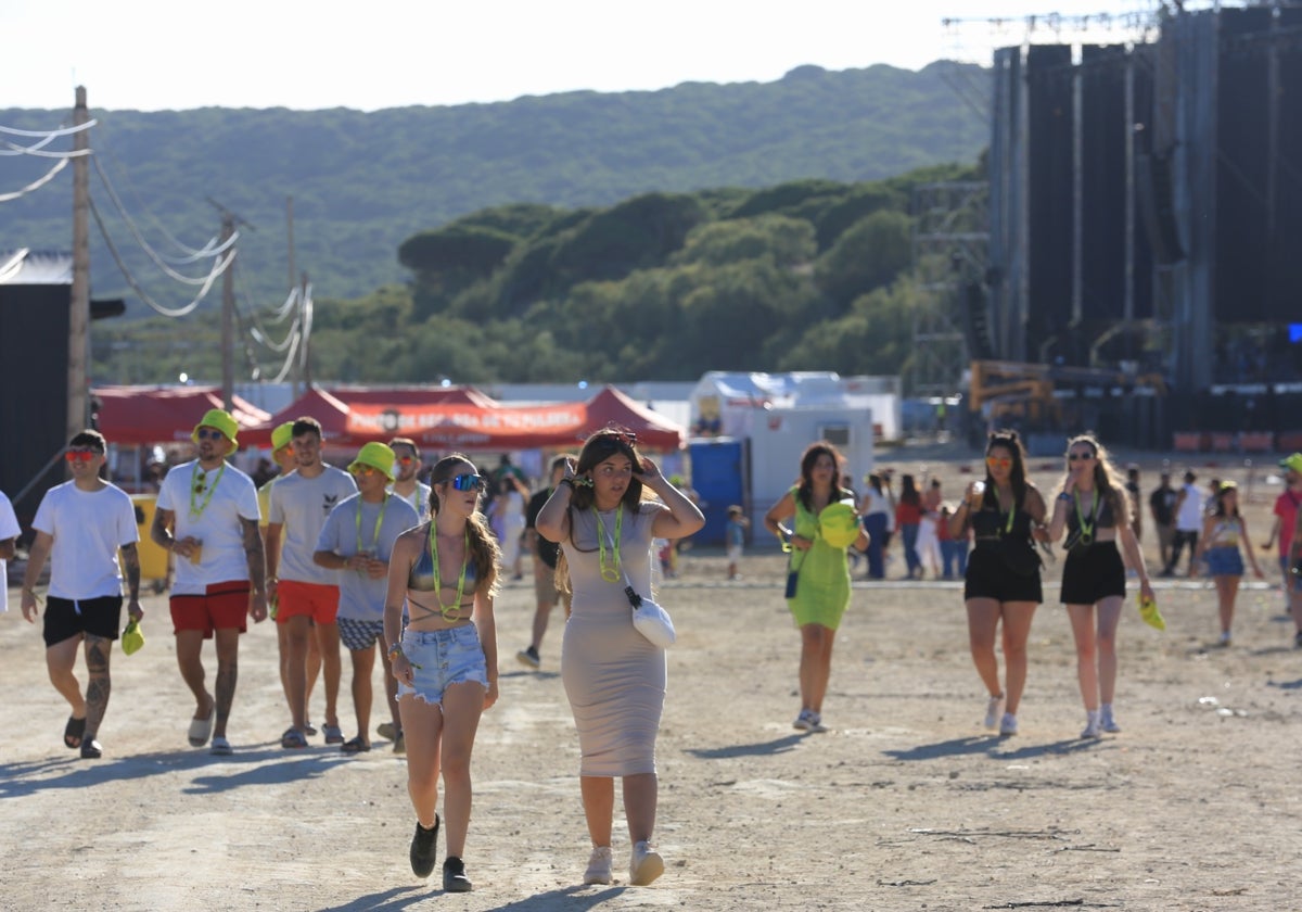
[[[221,409],[210,409],[191,439],[198,459],[174,466],[163,478],[150,537],[176,555],[172,627],[176,662],[195,713],[190,745],[210,753],[232,752],[227,722],[236,696],[240,634],[267,618],[266,567],[258,529],[258,489],[253,478],[227,461],[238,446],[240,425]],[[217,651],[216,696],[204,687],[203,641]]]

